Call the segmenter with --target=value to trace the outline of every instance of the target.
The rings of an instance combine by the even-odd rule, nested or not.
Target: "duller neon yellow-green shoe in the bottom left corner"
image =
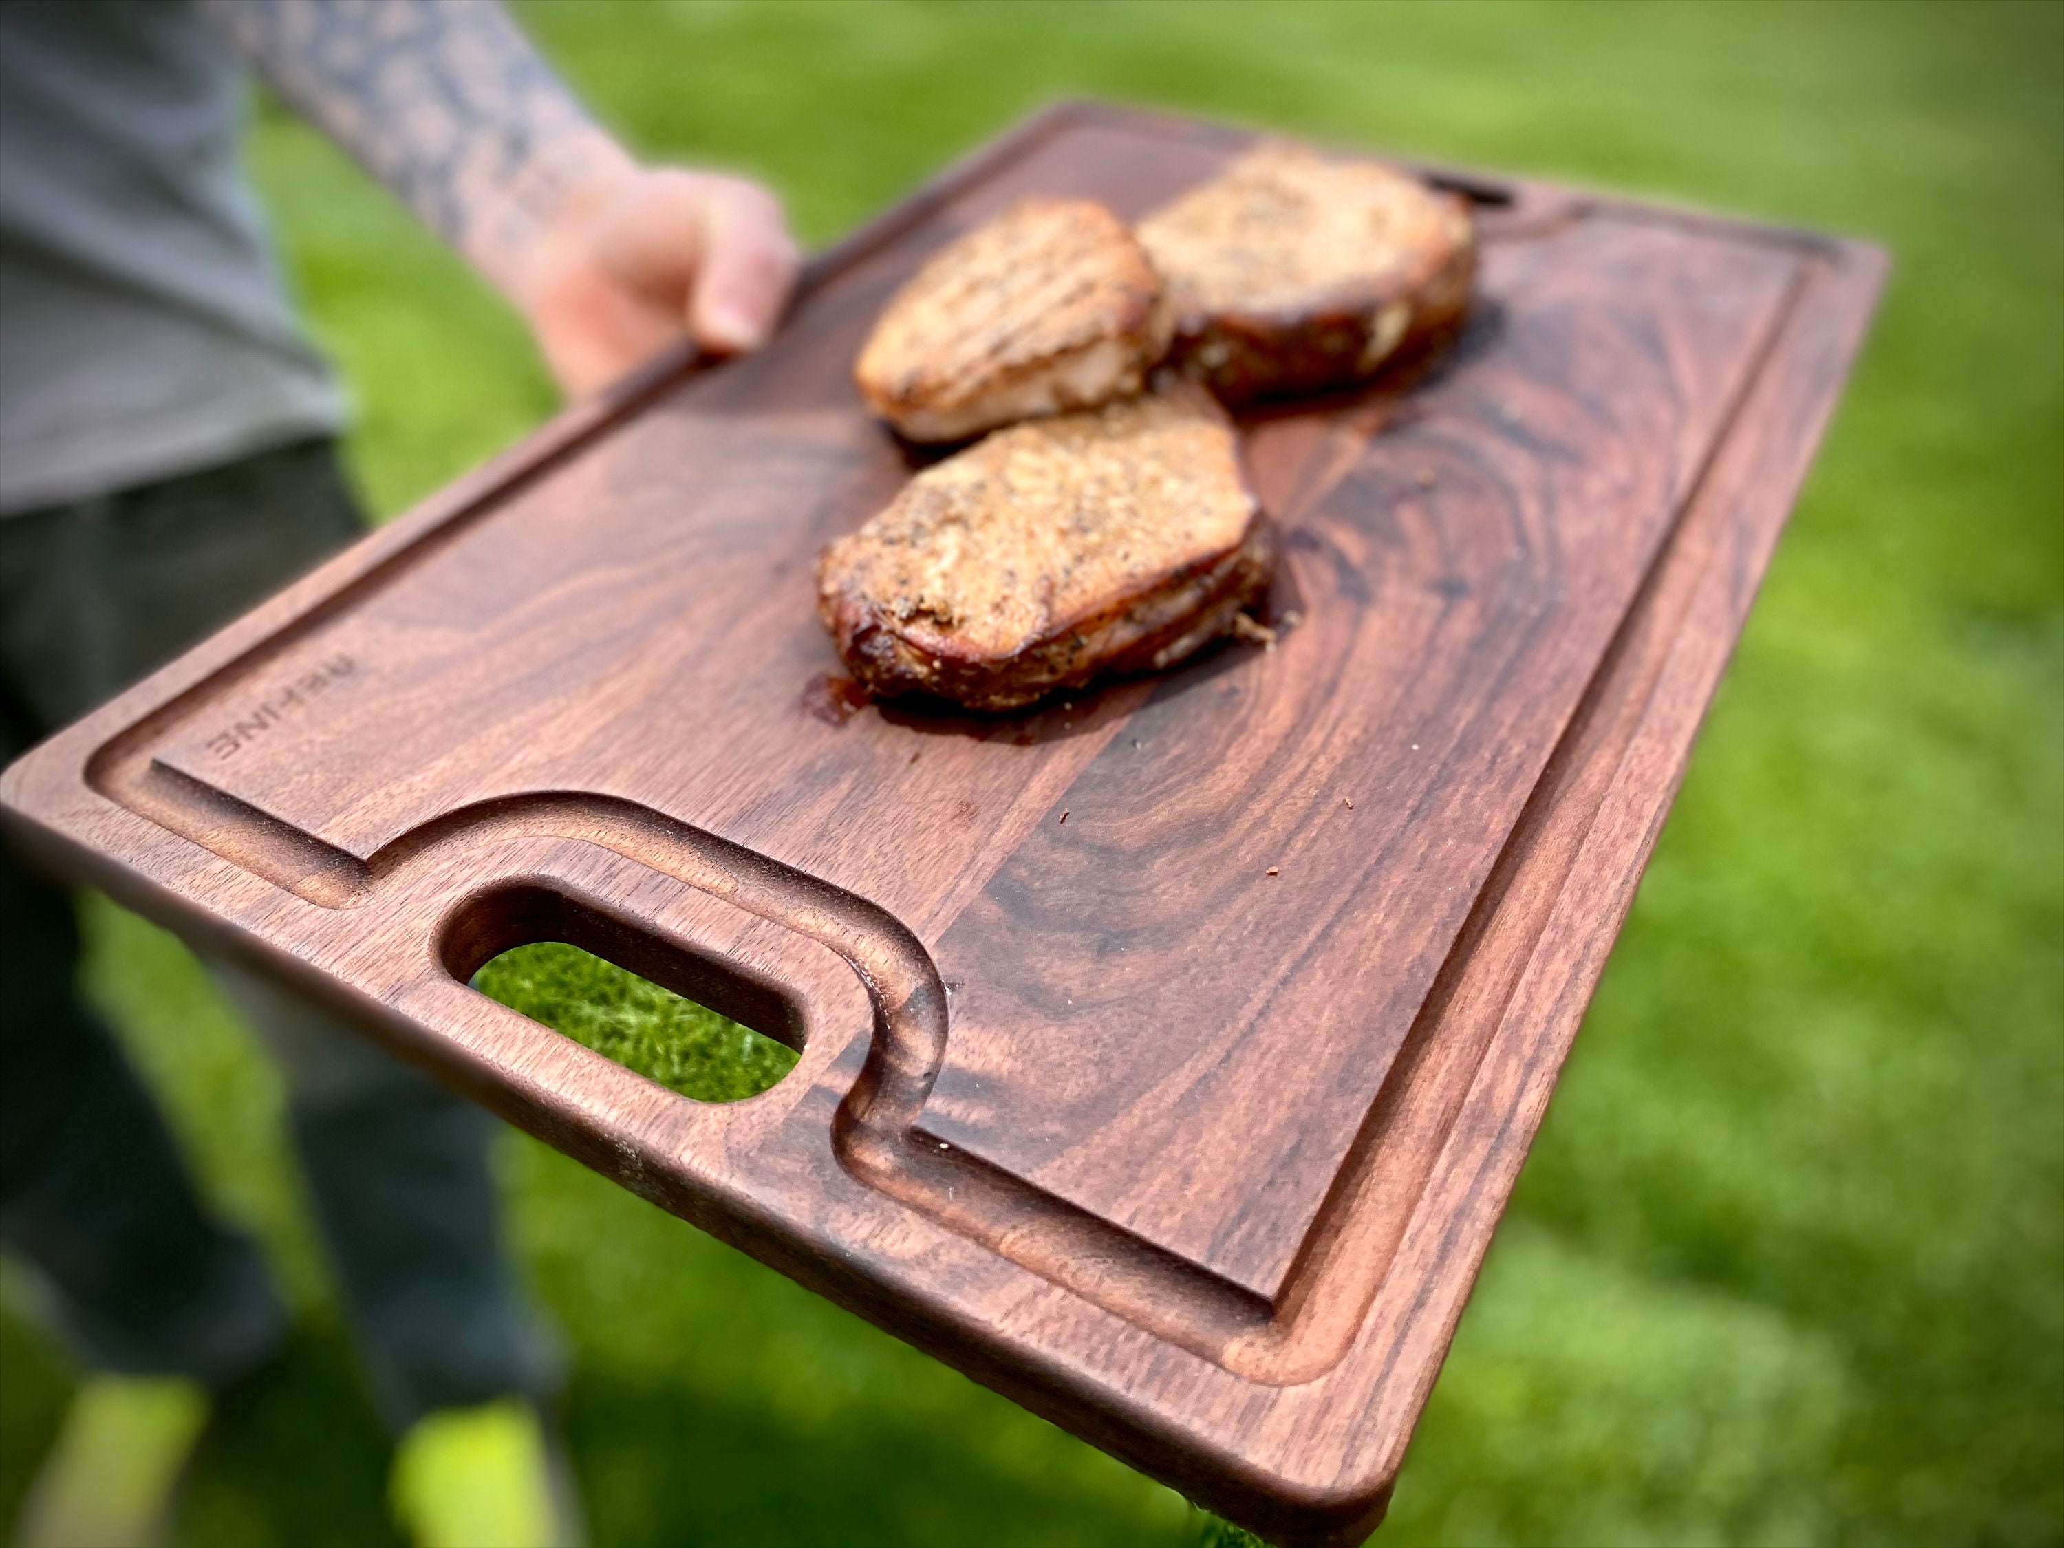
[[[29,1486],[21,1548],[153,1548],[171,1531],[180,1478],[208,1422],[186,1377],[87,1377]]]

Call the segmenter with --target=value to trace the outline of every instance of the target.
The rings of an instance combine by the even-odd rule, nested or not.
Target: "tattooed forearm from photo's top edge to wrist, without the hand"
[[[630,169],[495,0],[198,0],[215,31],[502,285]]]

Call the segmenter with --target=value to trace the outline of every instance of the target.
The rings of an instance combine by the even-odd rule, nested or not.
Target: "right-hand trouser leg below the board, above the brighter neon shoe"
[[[557,1352],[502,1251],[493,1119],[291,991],[211,968],[287,1077],[316,1220],[388,1424],[551,1397]]]

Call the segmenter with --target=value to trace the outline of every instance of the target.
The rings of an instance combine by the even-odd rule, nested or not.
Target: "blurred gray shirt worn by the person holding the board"
[[[334,431],[188,0],[0,0],[0,514]]]

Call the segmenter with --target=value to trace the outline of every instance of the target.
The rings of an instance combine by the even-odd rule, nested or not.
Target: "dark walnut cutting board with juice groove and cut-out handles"
[[[850,361],[1030,192],[1247,132],[1061,107],[64,731],[14,830],[1265,1536],[1381,1515],[1870,314],[1872,248],[1546,184],[1410,390],[1253,415],[1273,648],[854,704]],[[466,987],[570,939],[801,1049],[675,1096]]]

